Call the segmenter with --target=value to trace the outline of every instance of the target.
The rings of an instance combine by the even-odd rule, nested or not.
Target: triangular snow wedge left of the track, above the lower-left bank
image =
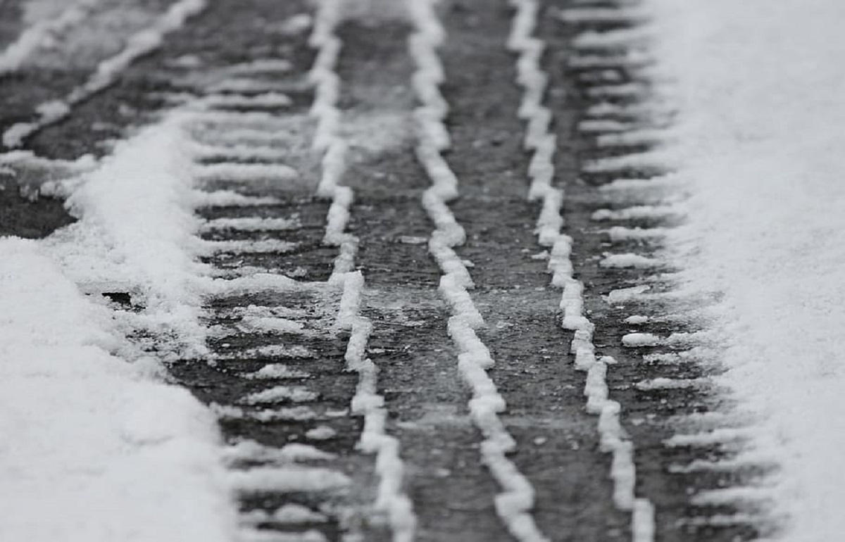
[[[195,236],[192,154],[185,118],[173,114],[117,144],[68,198],[79,222],[46,247],[87,292],[126,292],[144,307],[142,326],[175,339],[172,350],[204,353],[199,325],[204,245]]]

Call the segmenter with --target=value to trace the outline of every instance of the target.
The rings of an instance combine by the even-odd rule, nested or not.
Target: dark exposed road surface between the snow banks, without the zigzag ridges
[[[0,6],[0,46],[25,28],[23,4]],[[132,3],[104,1],[89,20],[119,20],[115,13],[128,13],[123,4]],[[113,84],[25,139],[21,149],[49,160],[0,170],[0,235],[46,236],[73,220],[61,201],[33,197],[33,187],[67,173],[60,160],[107,154],[110,141],[133,127],[207,100],[210,108],[186,135],[204,145],[198,165],[210,166],[198,184],[273,199],[197,209],[207,220],[199,235],[221,241],[206,261],[226,279],[273,274],[299,284],[208,299],[210,354],[169,362],[173,377],[221,415],[232,469],[243,474],[245,532],[268,540],[387,540],[408,532],[387,508],[373,507],[381,474],[360,445],[364,418],[352,406],[361,378],[348,364],[356,328],[338,322],[344,277],[359,271],[365,288],[355,310],[372,325],[365,355],[378,368],[384,434],[395,438],[404,463],[400,493],[417,516],[415,538],[532,539],[509,533],[507,513],[497,510],[503,489],[482,461],[485,435],[468,410],[471,387],[447,330],[453,307],[439,290],[444,270],[429,250],[436,225],[423,194],[433,179],[418,156],[425,135],[415,113],[425,96],[412,84],[420,66],[409,49],[419,29],[401,3],[340,3],[332,30],[342,46],[331,68],[338,134],[348,145],[340,184],[354,200],[343,239],[352,267],[339,273],[349,247],[326,237],[337,198],[318,193],[326,165],[312,145],[319,48],[309,37],[317,4],[211,2]],[[488,376],[507,404],[499,412],[515,442],[507,458],[533,488],[528,516],[552,540],[752,539],[759,534],[754,503],[730,490],[766,469],[725,466],[741,446],[744,420],[724,414],[729,405],[707,384],[717,360],[706,354],[706,322],[686,311],[706,300],[673,296],[673,269],[661,259],[661,228],[679,222],[666,201],[679,194],[649,185],[664,171],[636,158],[651,150],[649,131],[671,116],[649,90],[635,3],[538,2],[532,30],[545,44],[542,103],[556,138],[551,182],[564,194],[562,232],[571,238],[573,276],[595,326],[591,344],[607,363],[635,472],[602,446],[600,418],[586,408],[588,373],[570,353],[574,333],[562,325],[561,290],[550,283],[550,247],[535,231],[542,202],[528,198],[533,153],[524,146],[529,123],[517,114],[526,89],[517,80],[520,53],[506,46],[518,5],[439,3],[445,37],[436,52],[449,106],[450,147],[441,154],[459,192],[447,205],[466,232],[453,248],[485,322],[475,333],[495,360]],[[138,30],[148,19],[124,24]],[[39,62],[0,75],[0,131],[34,119],[40,104],[68,95],[113,54],[104,45],[87,62],[66,62],[63,40],[79,44],[74,32],[84,28],[63,30],[57,46],[35,51]],[[611,40],[584,37],[616,31],[634,38],[608,46]],[[267,60],[276,63],[254,63]],[[264,99],[269,93],[289,100]],[[296,174],[281,176],[274,165]],[[155,338],[144,339],[155,348]],[[260,395],[268,389],[276,393]],[[299,444],[307,446],[292,446]],[[280,476],[302,480],[285,484]],[[629,482],[654,507],[653,534],[615,494]]]

